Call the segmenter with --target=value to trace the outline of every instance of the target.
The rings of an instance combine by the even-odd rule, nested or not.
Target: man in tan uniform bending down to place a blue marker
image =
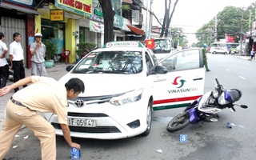
[[[54,127],[38,115],[38,112],[57,114],[62,126],[63,136],[70,147],[80,150],[78,143],[72,142],[70,128],[67,125],[67,98],[77,98],[84,92],[84,83],[78,78],[71,78],[65,86],[53,78],[30,76],[6,86],[0,90],[0,97],[8,94],[18,86],[33,84],[19,90],[6,104],[6,119],[0,132],[0,159],[4,158],[12,144],[13,138],[24,124],[40,139],[42,160],[56,159],[56,136]]]

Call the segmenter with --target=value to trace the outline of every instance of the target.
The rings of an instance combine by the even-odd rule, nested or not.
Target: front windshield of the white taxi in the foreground
[[[101,51],[91,52],[74,68],[82,74],[138,74],[142,72],[142,52]]]

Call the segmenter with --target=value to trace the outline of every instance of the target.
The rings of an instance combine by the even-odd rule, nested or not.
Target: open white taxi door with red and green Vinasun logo
[[[180,50],[158,62],[166,66],[166,74],[154,74],[153,110],[190,105],[202,96],[205,86],[205,69],[202,49]]]

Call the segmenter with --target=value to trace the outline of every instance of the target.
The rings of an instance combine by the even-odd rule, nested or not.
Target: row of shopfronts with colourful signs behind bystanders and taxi
[[[133,30],[143,32],[136,26],[130,30],[131,18],[123,18],[118,9],[122,2],[112,0],[116,12],[114,41],[129,40],[127,34],[136,34]],[[132,3],[130,1],[131,5]],[[50,40],[58,45],[56,54],[70,50],[70,63],[76,62],[75,50],[78,43],[94,42],[97,47],[103,46],[104,20],[98,0],[2,0],[0,13],[0,31],[6,35],[7,46],[13,42],[14,32],[22,34],[21,43],[27,68],[31,66],[30,44],[34,42],[34,34],[38,32],[42,33],[42,42]]]

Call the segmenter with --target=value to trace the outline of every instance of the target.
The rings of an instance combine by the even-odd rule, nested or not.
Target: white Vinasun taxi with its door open
[[[85,83],[85,92],[69,99],[68,125],[77,138],[148,135],[152,111],[187,106],[203,94],[205,78],[201,49],[182,50],[158,63],[141,42],[107,42],[66,70],[59,82]],[[46,119],[62,135],[57,116]]]

